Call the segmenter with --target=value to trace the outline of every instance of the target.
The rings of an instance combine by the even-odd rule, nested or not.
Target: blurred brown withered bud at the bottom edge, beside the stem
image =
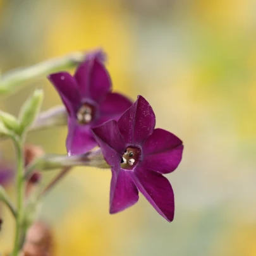
[[[49,226],[44,222],[35,222],[28,229],[22,256],[52,256],[53,236]]]

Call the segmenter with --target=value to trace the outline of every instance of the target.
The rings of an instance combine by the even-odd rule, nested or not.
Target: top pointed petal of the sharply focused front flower
[[[155,114],[142,96],[118,121],[118,127],[126,143],[141,145],[154,131]]]

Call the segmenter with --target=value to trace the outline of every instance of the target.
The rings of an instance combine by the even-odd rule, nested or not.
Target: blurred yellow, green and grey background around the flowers
[[[256,255],[255,13],[254,0],[0,0],[3,73],[102,47],[114,91],[143,95],[157,127],[185,145],[168,175],[176,199],[171,223],[142,196],[109,215],[110,171],[73,169],[40,213],[56,255]],[[37,87],[46,92],[43,109],[61,104],[45,78],[1,97],[1,109],[18,113]],[[66,132],[40,131],[27,141],[65,153]],[[14,161],[11,142],[0,149]],[[7,210],[1,214],[0,252],[8,252],[13,221]]]

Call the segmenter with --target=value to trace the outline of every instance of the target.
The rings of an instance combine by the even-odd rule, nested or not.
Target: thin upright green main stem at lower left
[[[22,140],[20,138],[14,138],[16,155],[17,155],[17,174],[16,174],[16,193],[17,193],[17,212],[16,212],[16,232],[15,232],[15,243],[13,246],[12,256],[17,256],[20,250],[20,238],[21,238],[21,226],[23,221],[24,211],[24,159],[22,151]]]

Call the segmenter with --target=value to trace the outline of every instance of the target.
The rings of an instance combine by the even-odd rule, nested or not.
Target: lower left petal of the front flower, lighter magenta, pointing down
[[[131,179],[132,174],[131,171],[120,168],[119,171],[112,169],[109,209],[111,214],[125,210],[138,202],[138,189]]]

